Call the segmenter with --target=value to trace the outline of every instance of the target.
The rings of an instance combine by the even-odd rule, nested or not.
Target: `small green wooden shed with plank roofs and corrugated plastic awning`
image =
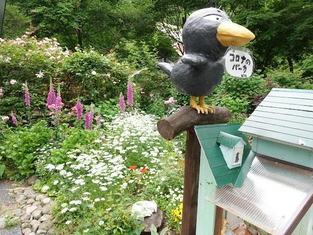
[[[272,89],[242,126],[195,131],[201,145],[197,235],[219,235],[227,213],[262,235],[313,235],[313,91]],[[242,166],[227,167],[220,132],[253,137]]]

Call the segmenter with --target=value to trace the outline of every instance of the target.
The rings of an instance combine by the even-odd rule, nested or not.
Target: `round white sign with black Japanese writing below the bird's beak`
[[[250,77],[254,70],[252,53],[244,47],[228,47],[224,61],[225,70],[235,77]]]

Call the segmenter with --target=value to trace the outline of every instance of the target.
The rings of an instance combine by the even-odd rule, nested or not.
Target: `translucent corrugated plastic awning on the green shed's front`
[[[205,200],[272,235],[284,235],[313,203],[313,171],[256,155],[241,188],[215,188]]]

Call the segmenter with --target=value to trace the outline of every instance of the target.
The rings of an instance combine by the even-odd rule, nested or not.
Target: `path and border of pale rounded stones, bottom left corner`
[[[7,181],[0,181],[0,235],[55,234],[51,208],[56,204],[47,195],[33,189],[35,180],[34,176],[27,179],[30,186],[26,182],[10,185]],[[6,220],[17,226],[4,229]]]

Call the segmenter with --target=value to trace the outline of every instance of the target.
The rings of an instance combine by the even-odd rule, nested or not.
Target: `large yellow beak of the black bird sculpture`
[[[230,47],[245,45],[253,40],[255,36],[244,26],[224,21],[217,28],[216,38],[224,47]]]

